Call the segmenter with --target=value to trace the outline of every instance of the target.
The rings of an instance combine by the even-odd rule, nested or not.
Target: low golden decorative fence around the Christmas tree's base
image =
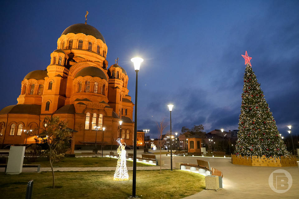
[[[296,156],[269,157],[231,155],[231,163],[259,167],[297,167]]]

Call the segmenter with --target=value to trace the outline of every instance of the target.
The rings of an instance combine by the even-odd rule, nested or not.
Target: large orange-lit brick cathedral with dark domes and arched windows
[[[126,70],[106,60],[102,34],[88,24],[66,28],[45,70],[29,72],[21,81],[16,105],[0,111],[0,145],[35,143],[46,116],[58,116],[74,129],[74,147],[95,142],[117,145],[118,137],[133,145],[134,122]],[[119,121],[122,121],[120,126]],[[95,126],[105,127],[97,132]],[[26,135],[24,130],[33,130]],[[77,132],[76,132],[77,131]],[[137,145],[138,146],[138,145]]]

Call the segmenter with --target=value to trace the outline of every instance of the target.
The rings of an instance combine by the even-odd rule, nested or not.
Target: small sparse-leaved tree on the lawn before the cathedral
[[[53,176],[52,188],[54,189],[55,175],[53,170],[53,162],[58,162],[64,158],[64,153],[70,146],[69,141],[71,138],[69,129],[67,127],[67,122],[59,120],[59,117],[45,117],[40,137],[49,146],[47,152]]]

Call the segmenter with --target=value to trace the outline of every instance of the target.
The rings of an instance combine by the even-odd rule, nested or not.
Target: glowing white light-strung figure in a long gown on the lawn
[[[114,173],[113,180],[129,180],[127,165],[126,165],[126,143],[121,143],[120,139],[116,140],[119,143],[119,147],[117,148],[118,160],[117,166]],[[125,145],[122,145],[125,144]]]

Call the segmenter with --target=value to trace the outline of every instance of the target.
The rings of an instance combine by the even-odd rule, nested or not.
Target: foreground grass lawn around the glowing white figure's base
[[[136,195],[144,199],[179,199],[202,191],[205,178],[181,170],[137,171]],[[6,199],[24,198],[27,182],[33,183],[32,199],[105,198],[124,199],[132,194],[132,175],[128,181],[114,181],[114,171],[55,172],[55,189],[51,172],[5,175],[0,173],[0,193]]]

